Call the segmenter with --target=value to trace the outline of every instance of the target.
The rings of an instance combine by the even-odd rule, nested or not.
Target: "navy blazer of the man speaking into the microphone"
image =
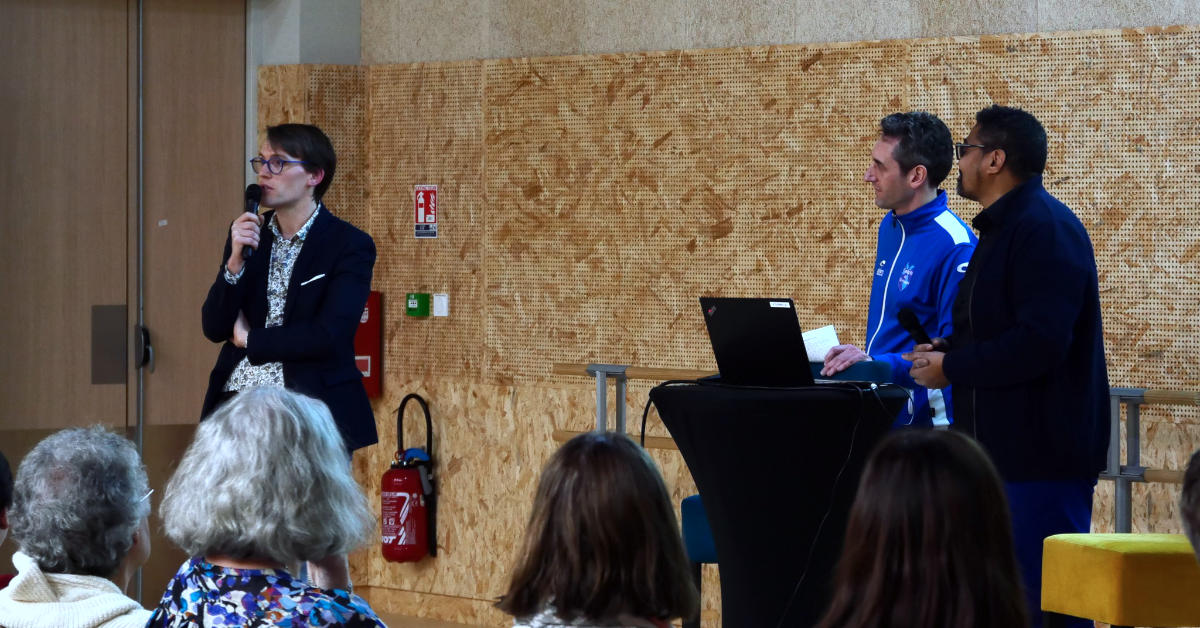
[[[266,281],[275,234],[266,225],[272,214],[263,214],[258,250],[232,286],[224,279],[224,262],[232,251],[226,238],[221,268],[204,299],[204,336],[224,346],[209,376],[202,420],[218,405],[234,367],[248,357],[254,365],[282,363],[288,389],[324,401],[347,449],[374,444],[379,441],[374,413],[354,363],[354,333],[371,291],[374,241],[322,205],[292,269],[283,323],[268,328]],[[246,313],[251,329],[245,349],[229,342],[239,310]]]

